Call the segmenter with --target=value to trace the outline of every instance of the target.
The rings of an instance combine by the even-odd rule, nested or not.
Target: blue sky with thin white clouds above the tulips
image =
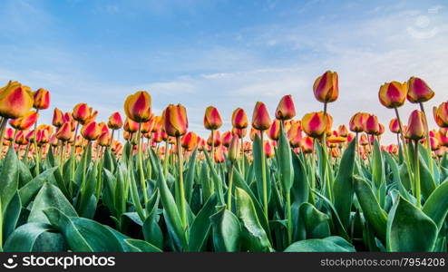
[[[392,3],[391,3],[392,2]],[[326,70],[340,78],[329,107],[335,123],[358,111],[386,125],[393,112],[377,99],[388,81],[424,78],[448,100],[447,1],[83,1],[2,0],[0,81],[52,93],[69,111],[88,102],[99,121],[122,112],[125,97],[151,93],[154,112],[188,109],[190,129],[216,106],[251,115],[255,102],[275,111],[292,94],[297,117],[321,109],[312,84]],[[404,114],[414,109],[406,105]],[[389,138],[387,138],[389,139]],[[390,138],[392,139],[392,138]]]

